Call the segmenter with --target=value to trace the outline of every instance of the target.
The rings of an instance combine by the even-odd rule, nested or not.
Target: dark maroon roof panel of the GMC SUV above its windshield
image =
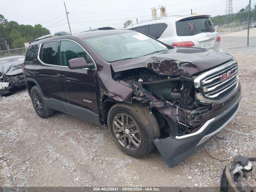
[[[72,36],[76,36],[78,38],[90,38],[95,36],[103,36],[103,35],[111,35],[111,34],[118,34],[118,33],[125,33],[125,32],[133,32],[132,30],[126,29],[112,29],[112,30],[96,30],[96,31],[86,31],[81,33],[72,34]]]

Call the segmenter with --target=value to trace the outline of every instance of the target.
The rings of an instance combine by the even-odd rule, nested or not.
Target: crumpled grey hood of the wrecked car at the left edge
[[[0,73],[4,75],[16,75],[22,72],[22,64],[24,60],[18,60],[0,64]]]

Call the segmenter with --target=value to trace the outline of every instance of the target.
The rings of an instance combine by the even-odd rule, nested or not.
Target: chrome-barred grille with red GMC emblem
[[[226,78],[222,80],[222,78]],[[228,96],[238,84],[238,68],[236,60],[226,62],[198,76],[195,80],[200,88],[200,95],[206,100],[221,100]]]

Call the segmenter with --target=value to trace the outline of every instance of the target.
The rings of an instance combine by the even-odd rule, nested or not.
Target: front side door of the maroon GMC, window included
[[[87,63],[94,63],[93,68],[70,69],[68,60],[84,57]],[[88,52],[73,40],[60,41],[60,67],[57,70],[62,101],[86,108],[98,114],[96,96],[96,65]]]

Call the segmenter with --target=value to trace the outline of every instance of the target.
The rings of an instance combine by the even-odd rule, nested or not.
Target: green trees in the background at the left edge
[[[40,24],[24,25],[18,24],[15,21],[10,21],[0,14],[0,44],[5,44],[6,42],[11,42],[11,48],[21,48],[24,47],[25,42],[32,42],[35,38],[40,36],[50,34],[50,30],[42,27]],[[2,48],[6,50],[6,48]]]

